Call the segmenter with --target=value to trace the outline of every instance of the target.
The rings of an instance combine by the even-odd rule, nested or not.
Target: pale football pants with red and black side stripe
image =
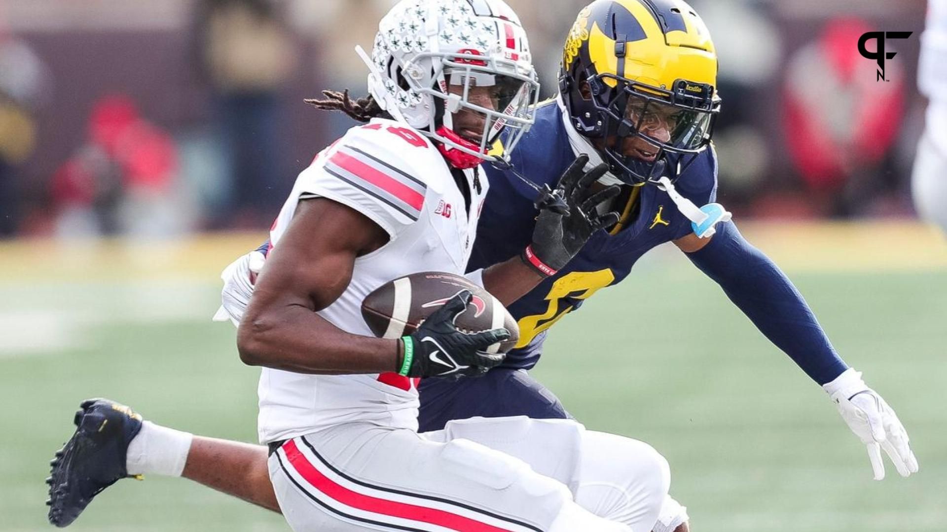
[[[269,466],[295,532],[650,532],[670,484],[646,443],[527,417],[348,423],[288,440]]]

